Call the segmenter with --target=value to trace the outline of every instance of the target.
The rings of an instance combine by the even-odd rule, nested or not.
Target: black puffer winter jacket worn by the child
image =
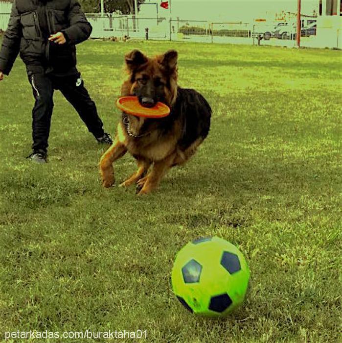
[[[0,71],[4,74],[10,73],[19,52],[27,70],[42,65],[67,71],[76,66],[75,45],[89,38],[91,25],[77,0],[43,2],[49,33],[63,32],[67,43],[58,45],[43,37],[37,15],[40,0],[14,0],[0,50]]]

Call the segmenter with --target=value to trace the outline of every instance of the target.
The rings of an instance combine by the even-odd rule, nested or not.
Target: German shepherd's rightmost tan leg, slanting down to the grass
[[[175,156],[176,154],[172,153],[163,160],[154,163],[152,171],[138,181],[138,186],[142,186],[140,192],[138,193],[139,196],[142,194],[148,194],[153,189],[158,187],[161,178],[174,163]]]

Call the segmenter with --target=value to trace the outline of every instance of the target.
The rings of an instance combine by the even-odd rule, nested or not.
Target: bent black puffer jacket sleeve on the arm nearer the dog
[[[79,44],[89,38],[92,27],[77,0],[70,0],[68,20],[70,26],[62,32],[69,44]]]

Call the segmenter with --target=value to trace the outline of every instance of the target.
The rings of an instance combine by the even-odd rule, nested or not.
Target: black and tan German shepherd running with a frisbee
[[[138,169],[120,186],[137,184],[139,195],[150,193],[165,172],[185,163],[207,136],[211,108],[201,94],[177,85],[177,58],[175,50],[154,58],[139,50],[125,56],[129,78],[122,84],[121,96],[137,96],[145,107],[160,101],[171,112],[160,119],[122,113],[113,145],[99,164],[104,187],[114,184],[113,162],[129,151],[137,160]]]

